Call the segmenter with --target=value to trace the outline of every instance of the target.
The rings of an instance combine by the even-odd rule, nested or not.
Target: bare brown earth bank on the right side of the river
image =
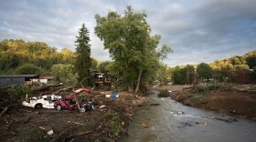
[[[192,86],[159,86],[171,90],[172,99],[187,106],[256,119],[256,86],[228,85],[224,89],[197,92]]]

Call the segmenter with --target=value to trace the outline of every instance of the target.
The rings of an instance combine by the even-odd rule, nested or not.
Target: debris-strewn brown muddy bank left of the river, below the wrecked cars
[[[127,132],[135,106],[147,101],[120,92],[118,98],[93,95],[94,110],[34,109],[18,106],[0,117],[1,141],[115,141]]]

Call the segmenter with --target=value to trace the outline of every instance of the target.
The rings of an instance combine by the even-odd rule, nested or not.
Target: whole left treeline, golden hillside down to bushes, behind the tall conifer
[[[75,53],[67,47],[60,52],[43,42],[26,42],[22,39],[5,39],[0,42],[0,75],[39,74],[57,76],[57,81],[75,84],[77,74],[73,70]],[[98,61],[91,58],[91,70]]]

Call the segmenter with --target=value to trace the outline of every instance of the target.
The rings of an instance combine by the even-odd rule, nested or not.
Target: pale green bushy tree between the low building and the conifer
[[[71,64],[58,64],[51,67],[51,75],[56,76],[57,80],[66,85],[76,85],[78,75],[73,71],[74,66]]]

